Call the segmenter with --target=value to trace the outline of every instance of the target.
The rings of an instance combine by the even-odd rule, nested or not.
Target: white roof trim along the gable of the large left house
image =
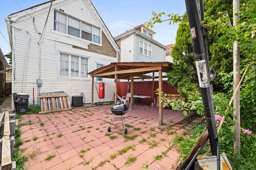
[[[53,2],[55,2],[55,4],[59,3],[59,2],[66,2],[69,3],[69,2],[72,2],[72,0],[52,0]],[[120,47],[118,46],[118,44],[116,43],[114,37],[111,35],[108,27],[106,26],[106,24],[104,23],[104,21],[102,20],[102,18],[100,17],[100,14],[98,13],[98,11],[96,10],[96,8],[94,7],[94,5],[92,4],[91,0],[84,0],[85,2],[87,1],[88,4],[90,5],[90,7],[92,8],[92,11],[94,12],[94,14],[96,15],[98,21],[100,21],[100,25],[102,25],[102,29],[105,29],[106,30],[106,33],[107,33],[107,37],[110,41],[110,43],[112,42],[112,45],[113,47],[116,49],[116,51],[120,51]],[[50,7],[50,3],[51,3],[51,0],[50,1],[47,1],[47,2],[44,2],[44,3],[41,3],[41,4],[38,4],[38,5],[35,5],[35,6],[32,6],[30,8],[27,8],[25,10],[21,10],[21,11],[18,11],[18,12],[15,12],[13,14],[10,14],[8,16],[8,19],[6,19],[6,25],[7,25],[7,29],[8,29],[8,34],[9,34],[9,38],[10,38],[10,41],[11,41],[11,37],[12,37],[12,27],[8,24],[10,22],[12,22],[12,19],[14,21],[18,20],[18,18],[22,18],[24,16],[27,16],[29,14],[34,14],[35,12],[37,11],[42,11],[42,9],[46,9],[46,8],[49,8]],[[47,6],[48,4],[48,6]],[[45,6],[44,6],[45,5]],[[38,7],[44,7],[44,8],[38,8]],[[105,33],[105,34],[106,34]]]

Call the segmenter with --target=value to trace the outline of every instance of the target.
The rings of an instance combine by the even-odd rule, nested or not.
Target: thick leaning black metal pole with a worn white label
[[[212,93],[210,88],[210,79],[207,53],[204,47],[204,37],[200,18],[198,13],[197,0],[185,0],[186,10],[188,14],[188,23],[192,38],[193,50],[196,59],[196,68],[202,100],[204,104],[204,115],[206,118],[209,141],[212,150],[212,155],[217,156],[218,133],[215,123],[214,107],[212,103]]]

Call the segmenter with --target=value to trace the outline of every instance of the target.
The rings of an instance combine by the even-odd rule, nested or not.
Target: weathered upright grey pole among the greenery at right
[[[239,0],[233,0],[233,26],[237,25],[239,21]],[[238,86],[240,80],[240,51],[238,47],[238,41],[234,41],[233,44],[233,92]],[[240,154],[240,89],[234,96],[234,151]],[[237,119],[235,119],[237,117]]]

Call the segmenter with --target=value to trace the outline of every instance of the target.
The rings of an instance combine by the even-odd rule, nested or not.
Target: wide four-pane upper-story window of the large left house
[[[100,28],[54,11],[54,30],[100,44]]]

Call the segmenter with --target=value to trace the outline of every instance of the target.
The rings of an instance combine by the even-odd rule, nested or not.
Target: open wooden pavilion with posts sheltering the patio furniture
[[[159,79],[159,88],[162,89],[162,76],[163,72],[168,72],[172,69],[172,63],[169,62],[131,62],[131,63],[111,63],[107,66],[103,66],[98,68],[92,72],[89,72],[90,76],[92,76],[92,103],[93,106],[93,94],[94,94],[94,77],[102,77],[102,78],[113,78],[115,79],[115,103],[117,103],[117,83],[118,79],[126,79],[128,82],[130,81],[130,92],[131,98],[133,101],[133,91],[134,91],[134,80],[136,79],[152,79],[153,80],[153,88],[152,88],[152,98],[154,99],[154,80],[156,78]],[[147,76],[144,74],[148,74],[153,72],[153,76]],[[158,72],[159,76],[154,76],[154,73]],[[159,98],[161,98],[161,94],[159,94]],[[159,104],[159,125],[162,125],[162,103]],[[133,102],[130,103],[130,109],[133,109]]]

